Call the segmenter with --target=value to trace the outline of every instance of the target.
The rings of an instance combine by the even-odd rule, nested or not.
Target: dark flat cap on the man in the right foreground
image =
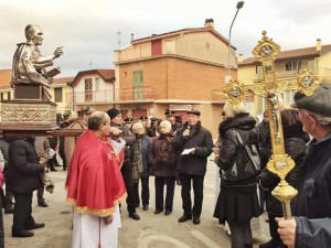
[[[292,108],[302,108],[323,116],[331,116],[331,84],[322,83],[311,96],[298,91]]]

